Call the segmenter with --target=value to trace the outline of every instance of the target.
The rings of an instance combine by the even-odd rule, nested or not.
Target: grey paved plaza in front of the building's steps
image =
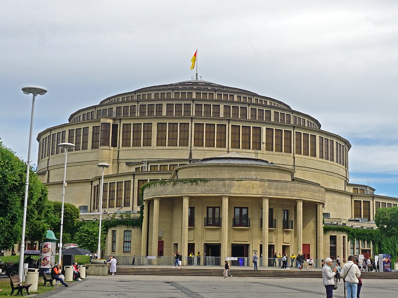
[[[363,279],[361,298],[396,298],[396,279]],[[31,295],[33,296],[33,295]],[[36,298],[320,298],[326,297],[321,278],[253,278],[156,275],[89,276],[72,282],[68,288],[57,286],[54,291]],[[344,298],[343,283],[333,298]]]

